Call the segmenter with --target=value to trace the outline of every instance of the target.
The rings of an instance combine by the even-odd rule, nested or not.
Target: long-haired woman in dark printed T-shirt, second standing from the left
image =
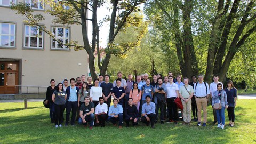
[[[66,105],[67,93],[63,89],[63,84],[58,83],[57,89],[52,94],[52,101],[55,104],[55,127],[62,127],[62,122],[64,121],[64,110]]]

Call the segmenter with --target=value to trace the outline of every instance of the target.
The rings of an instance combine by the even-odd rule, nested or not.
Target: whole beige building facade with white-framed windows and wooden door
[[[64,78],[88,75],[85,50],[69,49],[39,28],[27,25],[22,15],[10,9],[10,2],[26,2],[37,14],[50,9],[39,0],[0,1],[0,94],[44,92],[46,88],[40,86],[49,86],[51,79],[58,84]],[[59,41],[73,40],[83,45],[81,26],[55,25],[51,15],[44,15],[40,24]]]

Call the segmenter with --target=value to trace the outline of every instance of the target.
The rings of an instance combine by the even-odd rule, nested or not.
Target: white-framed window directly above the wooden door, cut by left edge
[[[15,46],[15,24],[0,23],[0,46],[1,47]]]

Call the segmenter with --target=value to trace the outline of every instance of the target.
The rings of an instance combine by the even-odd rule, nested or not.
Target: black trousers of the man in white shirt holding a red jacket
[[[178,121],[177,106],[174,102],[175,98],[167,98],[167,107],[169,112],[169,120]]]

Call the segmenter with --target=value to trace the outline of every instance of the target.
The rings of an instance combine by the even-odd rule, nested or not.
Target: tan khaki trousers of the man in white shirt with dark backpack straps
[[[203,114],[204,114],[204,123],[207,121],[207,99],[205,98],[196,98],[196,105],[197,105],[197,117],[198,122],[201,122],[201,110],[203,108]]]

